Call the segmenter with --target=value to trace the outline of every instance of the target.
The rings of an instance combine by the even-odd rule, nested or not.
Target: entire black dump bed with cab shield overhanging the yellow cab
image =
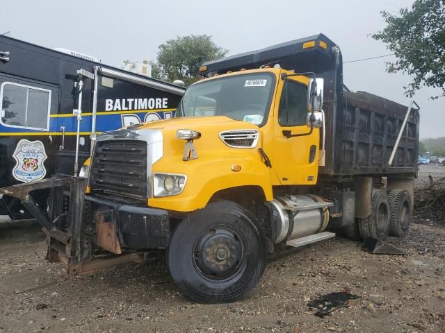
[[[296,73],[314,72],[318,78],[324,78],[326,158],[325,167],[320,169],[322,174],[385,175],[416,171],[419,110],[411,110],[389,167],[389,156],[407,107],[367,92],[345,89],[341,51],[323,34],[207,62],[201,74],[212,76],[275,63]]]

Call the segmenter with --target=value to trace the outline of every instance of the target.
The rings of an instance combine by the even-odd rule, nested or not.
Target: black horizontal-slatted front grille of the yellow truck
[[[147,142],[97,142],[90,170],[90,188],[147,198]]]

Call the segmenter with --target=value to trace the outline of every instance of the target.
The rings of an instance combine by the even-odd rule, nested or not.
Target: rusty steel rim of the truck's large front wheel
[[[216,225],[200,234],[193,246],[193,262],[208,280],[228,280],[245,268],[241,234],[228,225]]]

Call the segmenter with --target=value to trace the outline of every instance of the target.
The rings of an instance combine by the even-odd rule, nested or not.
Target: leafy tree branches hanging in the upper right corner
[[[404,87],[407,96],[424,85],[441,88],[445,96],[445,1],[416,0],[411,9],[403,8],[399,14],[383,11],[387,27],[372,35],[397,58],[387,62],[387,71],[412,76],[412,83]]]

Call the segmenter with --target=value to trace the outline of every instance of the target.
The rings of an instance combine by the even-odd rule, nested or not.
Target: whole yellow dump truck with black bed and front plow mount
[[[351,92],[325,35],[200,73],[172,119],[99,135],[85,178],[2,190],[42,221],[50,261],[81,273],[163,249],[184,296],[229,302],[278,246],[407,233],[418,106]],[[52,191],[46,220],[29,195],[39,186]]]

